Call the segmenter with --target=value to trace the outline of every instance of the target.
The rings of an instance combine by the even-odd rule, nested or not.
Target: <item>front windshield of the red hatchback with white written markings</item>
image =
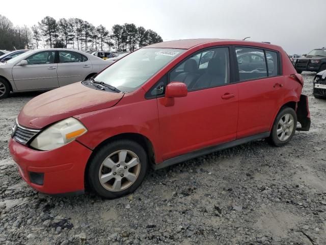
[[[103,70],[94,80],[132,92],[185,50],[141,48]]]

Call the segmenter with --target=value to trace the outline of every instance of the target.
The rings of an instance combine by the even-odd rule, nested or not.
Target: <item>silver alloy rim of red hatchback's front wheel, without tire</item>
[[[130,187],[137,180],[140,170],[139,157],[132,151],[120,150],[105,158],[98,178],[105,189],[117,192]]]

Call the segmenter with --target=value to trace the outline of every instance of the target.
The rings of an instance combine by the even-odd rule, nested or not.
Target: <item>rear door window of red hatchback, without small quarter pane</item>
[[[263,50],[236,47],[236,57],[240,81],[267,77],[266,61]]]

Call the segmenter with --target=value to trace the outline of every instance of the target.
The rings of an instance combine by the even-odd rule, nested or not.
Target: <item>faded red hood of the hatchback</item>
[[[18,115],[21,126],[41,129],[53,122],[116,105],[124,93],[92,89],[74,83],[43,93],[29,101]]]

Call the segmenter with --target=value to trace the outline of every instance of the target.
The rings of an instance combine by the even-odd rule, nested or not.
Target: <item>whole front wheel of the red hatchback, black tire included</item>
[[[141,185],[147,173],[148,159],[140,144],[117,140],[102,146],[89,164],[87,176],[92,189],[103,198],[114,199]]]

